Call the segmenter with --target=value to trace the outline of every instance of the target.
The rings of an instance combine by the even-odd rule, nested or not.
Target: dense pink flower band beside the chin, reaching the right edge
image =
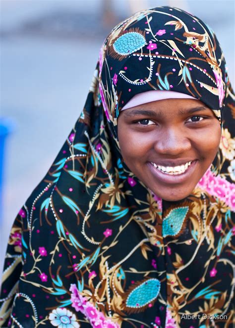
[[[215,176],[210,168],[197,186],[223,200],[233,211],[235,210],[235,185],[220,176]]]

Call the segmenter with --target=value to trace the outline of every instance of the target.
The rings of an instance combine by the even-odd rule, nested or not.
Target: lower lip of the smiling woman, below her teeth
[[[183,173],[181,174],[167,174],[167,173],[163,173],[162,171],[160,171],[159,169],[157,169],[156,167],[154,167],[150,162],[147,163],[147,165],[150,168],[150,171],[152,172],[152,174],[161,182],[165,183],[165,184],[180,184],[185,182],[188,178],[190,178],[190,176],[192,175],[193,171],[195,170],[195,166],[196,166],[197,160],[192,161],[191,165],[188,166],[187,170],[185,170]]]

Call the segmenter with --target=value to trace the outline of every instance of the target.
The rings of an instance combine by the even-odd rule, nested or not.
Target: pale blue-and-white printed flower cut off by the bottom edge
[[[49,315],[52,326],[59,328],[79,328],[75,314],[65,308],[57,308]]]

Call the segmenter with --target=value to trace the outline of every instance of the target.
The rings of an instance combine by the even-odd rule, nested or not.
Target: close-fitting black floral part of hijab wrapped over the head
[[[184,11],[154,8],[117,25],[101,49],[99,69],[114,126],[128,100],[150,90],[191,95],[221,118],[228,83],[224,55],[211,28]]]

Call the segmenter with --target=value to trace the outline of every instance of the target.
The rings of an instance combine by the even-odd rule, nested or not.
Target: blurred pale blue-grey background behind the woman
[[[234,85],[234,0],[0,0],[0,272],[13,220],[78,118],[106,35],[158,5],[212,27]]]

